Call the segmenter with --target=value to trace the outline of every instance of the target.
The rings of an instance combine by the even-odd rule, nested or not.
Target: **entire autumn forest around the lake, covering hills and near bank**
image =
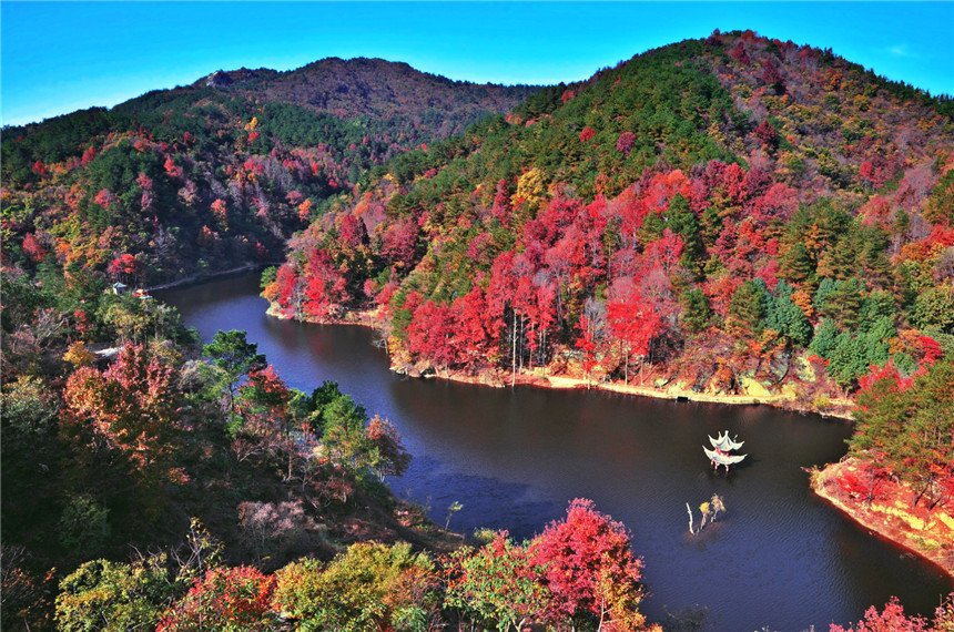
[[[952,114],[745,31],[569,85],[329,59],[4,128],[3,628],[659,629],[590,501],[450,533],[389,493],[387,419],[109,292],[283,258],[273,313],[364,313],[399,370],[854,410],[844,493],[950,509]]]

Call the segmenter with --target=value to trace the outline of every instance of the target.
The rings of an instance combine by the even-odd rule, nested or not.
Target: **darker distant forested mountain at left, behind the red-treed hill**
[[[6,128],[4,262],[31,268],[52,255],[77,285],[274,261],[364,170],[535,90],[326,59],[290,72],[219,71],[111,110]]]

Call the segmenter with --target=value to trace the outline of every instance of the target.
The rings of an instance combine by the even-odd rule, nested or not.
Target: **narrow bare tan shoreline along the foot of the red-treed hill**
[[[358,325],[362,327],[380,330],[380,328],[375,323],[373,310],[348,312],[344,317],[329,318],[323,322],[303,320],[301,318],[294,318],[292,316],[283,314],[278,308],[276,308],[274,304],[270,305],[268,309],[266,309],[265,313],[268,316],[273,316],[282,320],[297,320],[300,323],[313,323],[321,325]],[[549,373],[549,367],[536,367],[531,371],[519,370],[516,374],[515,379],[512,378],[512,374],[507,370],[484,370],[468,374],[466,371],[449,371],[430,368],[425,371],[419,371],[410,365],[400,366],[393,359],[390,363],[390,370],[397,374],[416,377],[419,379],[446,379],[461,384],[490,386],[494,388],[506,388],[508,386],[511,386],[512,384],[515,386],[535,386],[538,388],[551,389],[590,389],[601,390],[606,393],[617,393],[620,395],[636,397],[652,397],[654,399],[692,401],[698,404],[725,404],[730,406],[771,406],[780,410],[798,412],[800,415],[811,412],[824,418],[836,418],[846,421],[852,420],[850,411],[851,402],[846,400],[838,402],[842,407],[846,408],[846,410],[832,410],[828,412],[820,412],[785,406],[785,404],[791,402],[792,399],[785,397],[784,395],[717,395],[710,393],[697,393],[694,390],[679,388],[677,386],[670,386],[666,389],[662,389],[646,385],[622,384],[620,381],[589,381],[587,379],[572,376],[551,375]]]

